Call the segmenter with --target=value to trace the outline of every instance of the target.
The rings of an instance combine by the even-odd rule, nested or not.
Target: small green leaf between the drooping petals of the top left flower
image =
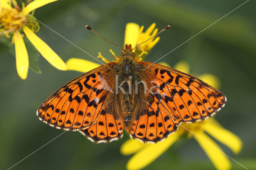
[[[36,50],[34,45],[32,45],[32,43],[30,43],[30,41],[27,38],[24,38],[24,43],[28,51],[29,68],[36,73],[42,73],[42,71],[38,68],[40,53]]]

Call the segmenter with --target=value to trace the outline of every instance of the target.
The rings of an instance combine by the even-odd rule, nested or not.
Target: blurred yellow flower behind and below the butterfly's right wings
[[[163,62],[160,64],[170,67],[168,64]],[[180,61],[174,68],[185,73],[189,73],[189,65],[185,61]],[[211,83],[219,82],[218,78],[214,75],[204,74],[198,77],[215,88],[219,85],[219,83]],[[138,140],[132,139],[124,142],[120,148],[120,152],[123,155],[135,153],[127,162],[126,168],[129,170],[144,168],[158,158],[158,156],[166,151],[183,134],[196,139],[216,169],[221,170],[231,168],[231,163],[228,157],[224,154],[224,151],[205,132],[210,134],[219,142],[228,146],[235,154],[238,154],[242,148],[242,141],[238,136],[226,130],[213,118],[196,123],[182,123],[180,126],[181,127],[174,134],[171,134],[164,141],[157,144],[143,144]]]

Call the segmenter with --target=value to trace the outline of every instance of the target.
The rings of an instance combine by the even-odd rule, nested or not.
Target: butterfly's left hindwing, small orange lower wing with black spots
[[[102,108],[96,123],[87,129],[79,130],[86,138],[94,143],[112,142],[123,136],[124,125],[116,120],[113,114],[106,113]]]

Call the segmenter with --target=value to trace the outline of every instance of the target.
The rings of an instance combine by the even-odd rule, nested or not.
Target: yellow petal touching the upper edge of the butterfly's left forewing
[[[100,66],[99,64],[80,58],[70,58],[68,59],[66,65],[68,70],[75,70],[83,73],[91,71],[92,69]]]

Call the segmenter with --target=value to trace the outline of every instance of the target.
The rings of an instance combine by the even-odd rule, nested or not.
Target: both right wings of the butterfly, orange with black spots
[[[140,63],[154,74],[151,81],[154,101],[148,100],[148,113],[134,121],[130,129],[132,138],[158,142],[174,132],[181,122],[207,119],[226,104],[220,91],[196,77],[163,65]]]

